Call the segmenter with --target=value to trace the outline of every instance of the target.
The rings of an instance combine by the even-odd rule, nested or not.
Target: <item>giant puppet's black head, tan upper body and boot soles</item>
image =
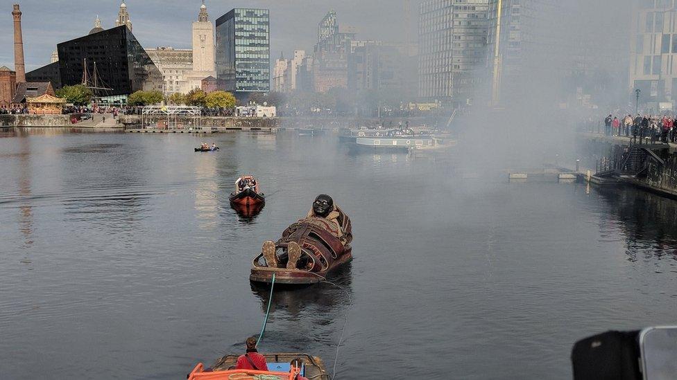
[[[315,198],[308,215],[286,228],[278,242],[288,241],[288,238],[298,229],[299,224],[313,224],[327,230],[339,239],[339,242],[343,245],[343,249],[352,242],[352,226],[350,224],[350,218],[348,215],[345,215],[339,206],[334,205],[334,199],[327,194],[318,195]],[[262,253],[266,259],[266,263],[273,267],[277,267],[278,264],[275,247],[275,242],[272,240],[264,242],[262,247]],[[343,249],[341,251],[343,251]],[[301,257],[301,247],[298,242],[288,242],[286,245],[286,253],[288,256],[286,264],[287,269],[296,269],[299,266],[305,266],[305,263],[298,262]]]

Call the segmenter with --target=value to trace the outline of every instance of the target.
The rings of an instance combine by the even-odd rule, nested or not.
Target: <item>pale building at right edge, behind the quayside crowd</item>
[[[647,0],[633,12],[629,91],[641,91],[640,103],[677,100],[676,11],[672,0]]]

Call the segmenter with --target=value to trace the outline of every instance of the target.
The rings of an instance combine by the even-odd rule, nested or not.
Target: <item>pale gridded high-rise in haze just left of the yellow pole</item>
[[[418,96],[461,104],[486,69],[489,0],[425,0],[419,13]],[[454,86],[455,84],[455,86]]]

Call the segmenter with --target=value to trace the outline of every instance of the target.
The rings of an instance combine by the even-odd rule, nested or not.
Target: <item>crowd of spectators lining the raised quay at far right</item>
[[[613,116],[604,118],[604,134],[651,140],[651,143],[677,143],[677,116],[644,115]]]

